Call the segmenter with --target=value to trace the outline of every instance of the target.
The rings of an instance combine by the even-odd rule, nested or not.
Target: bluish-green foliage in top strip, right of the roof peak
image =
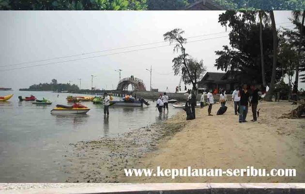
[[[214,0],[228,10],[304,10],[304,0]]]

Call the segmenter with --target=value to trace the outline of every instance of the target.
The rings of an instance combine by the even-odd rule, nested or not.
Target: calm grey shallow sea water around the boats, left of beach
[[[0,96],[10,93],[0,92]],[[64,181],[57,163],[64,161],[62,156],[70,143],[115,137],[166,120],[180,111],[170,109],[169,114],[159,115],[154,106],[110,107],[110,115],[104,116],[102,104],[81,102],[91,109],[87,114],[52,115],[50,111],[57,104],[68,104],[65,98],[70,94],[57,97],[52,92],[14,93],[8,102],[0,102],[0,182]],[[45,97],[53,104],[37,106],[32,101],[19,102],[18,96],[30,94],[38,99]]]

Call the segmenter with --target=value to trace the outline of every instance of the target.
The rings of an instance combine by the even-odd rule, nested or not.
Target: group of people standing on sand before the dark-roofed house
[[[248,88],[247,84],[243,84],[242,87],[236,87],[235,90],[232,93],[232,101],[234,101],[234,112],[235,115],[239,114],[239,122],[247,122],[246,117],[248,113],[248,108],[252,108],[252,115],[253,119],[251,121],[255,122],[257,121],[257,107],[259,103],[259,96],[261,95],[261,86],[260,85],[251,85],[250,88]],[[211,114],[213,104],[215,103],[214,97],[213,97],[213,90],[210,89],[207,94],[207,102],[209,104],[208,108],[208,115],[213,116]],[[205,99],[204,94],[201,95],[200,98],[200,107],[202,108],[204,105]],[[221,107],[225,108],[226,102],[228,101],[226,91],[222,90],[219,102],[221,103]]]

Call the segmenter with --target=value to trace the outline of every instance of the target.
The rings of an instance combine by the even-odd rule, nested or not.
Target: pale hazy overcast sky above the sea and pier
[[[168,87],[173,92],[180,81],[172,70],[172,59],[177,53],[164,42],[163,34],[183,29],[189,42],[186,52],[203,60],[207,71],[221,72],[214,67],[215,51],[229,45],[228,32],[218,23],[221,13],[2,11],[0,87],[17,90],[52,79],[79,85],[81,79],[81,88],[89,89],[93,75],[93,87],[111,90],[119,82],[115,70],[122,69],[121,78],[134,75],[149,90],[150,72],[146,69],[152,65],[152,88],[165,91]],[[292,25],[288,19],[290,11],[277,11],[274,15],[277,27]],[[300,87],[305,88],[305,83]]]

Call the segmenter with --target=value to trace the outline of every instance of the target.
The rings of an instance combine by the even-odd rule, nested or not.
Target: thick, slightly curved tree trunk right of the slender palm
[[[269,91],[266,95],[266,101],[272,101],[272,95],[275,87],[275,74],[276,74],[276,64],[277,64],[277,31],[276,31],[273,11],[270,12],[270,17],[271,17],[272,35],[273,35],[273,65],[272,65],[271,82],[269,86]]]

